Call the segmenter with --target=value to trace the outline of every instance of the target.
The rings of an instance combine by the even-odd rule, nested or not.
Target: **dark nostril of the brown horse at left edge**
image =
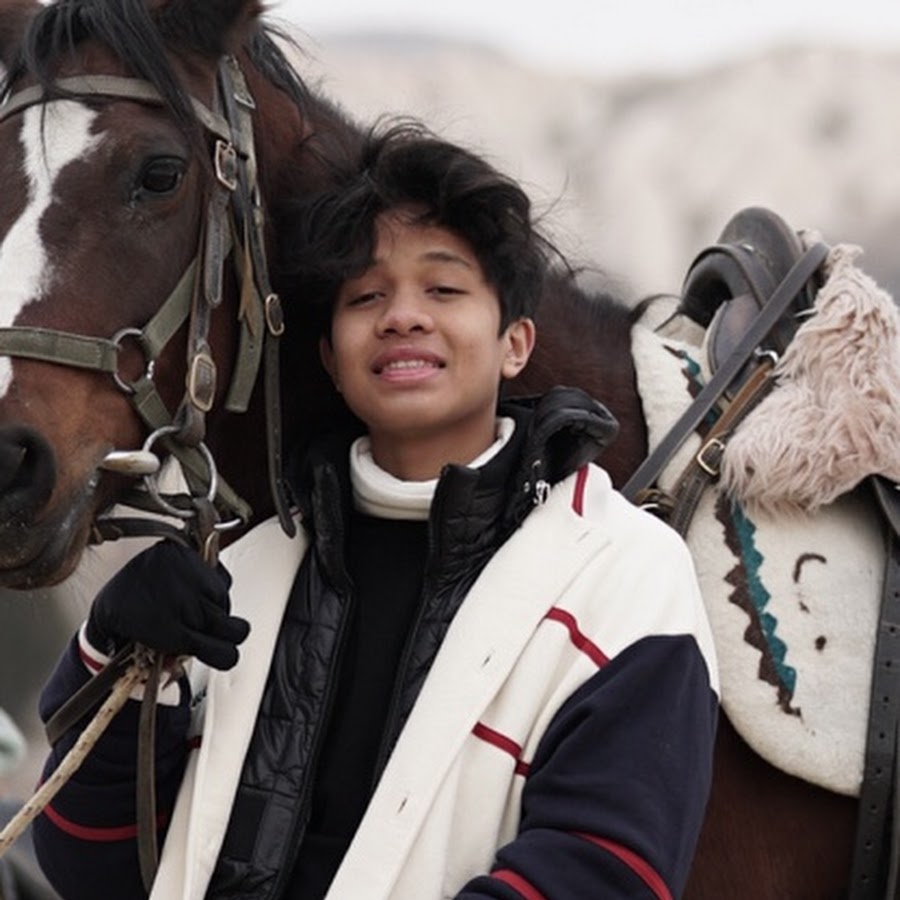
[[[53,493],[56,465],[53,450],[26,426],[0,428],[0,512],[34,510]]]

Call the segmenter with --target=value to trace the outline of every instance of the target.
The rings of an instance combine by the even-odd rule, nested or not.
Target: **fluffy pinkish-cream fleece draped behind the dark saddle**
[[[813,314],[737,429],[722,486],[748,509],[814,511],[870,474],[900,482],[900,310],[832,248]]]

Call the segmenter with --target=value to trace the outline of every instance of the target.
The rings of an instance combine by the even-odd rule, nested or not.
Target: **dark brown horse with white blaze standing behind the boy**
[[[161,450],[194,473],[187,511],[163,509],[205,539],[284,521],[282,444],[338,414],[303,304],[265,263],[286,201],[352,162],[362,128],[261,22],[254,0],[0,0],[4,586],[59,582],[91,540],[130,533],[107,512],[138,502],[135,474],[154,493]],[[637,312],[562,277],[542,310],[515,389],[602,399],[620,433],[599,461],[622,485],[648,449]],[[856,807],[776,770],[723,716],[685,896],[841,896]]]

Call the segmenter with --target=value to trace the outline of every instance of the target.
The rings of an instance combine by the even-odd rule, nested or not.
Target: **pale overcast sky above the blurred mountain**
[[[900,50],[900,0],[269,0],[314,40],[334,32],[430,32],[493,44],[526,62],[666,70],[771,43]],[[512,10],[512,12],[510,11]]]

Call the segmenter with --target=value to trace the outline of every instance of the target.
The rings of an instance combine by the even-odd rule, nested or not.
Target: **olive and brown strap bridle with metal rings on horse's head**
[[[0,122],[22,110],[54,99],[80,97],[123,99],[153,106],[164,105],[159,91],[139,78],[82,75],[58,79],[48,93],[36,85],[10,95],[0,105]],[[203,443],[205,415],[213,406],[216,364],[208,343],[212,313],[221,304],[225,263],[229,256],[241,286],[239,350],[225,401],[230,412],[245,412],[265,359],[266,437],[269,485],[282,528],[293,535],[282,480],[279,338],[284,332],[281,301],[272,290],[264,242],[264,215],[257,182],[252,114],[256,104],[237,60],[225,57],[219,65],[216,91],[221,112],[190,98],[204,131],[214,139],[212,163],[215,180],[206,200],[200,247],[173,291],[143,328],[125,328],[109,338],[45,328],[0,328],[0,355],[37,359],[109,374],[130,397],[150,436],[137,451],[113,451],[102,467],[126,475],[143,476],[146,491],[133,492],[127,505],[144,507],[167,516],[205,520],[203,541],[218,530],[246,523],[249,506],[217,475],[212,454]],[[188,323],[185,394],[173,415],[154,383],[156,362],[175,334]],[[120,374],[119,357],[126,341],[134,341],[145,359],[135,381]],[[156,488],[159,460],[153,445],[162,442],[181,464],[191,490],[189,504],[164,499]],[[148,502],[149,500],[149,502]],[[220,508],[231,521],[219,523]],[[164,523],[146,518],[101,517],[94,523],[94,540],[126,535],[171,533]]]

